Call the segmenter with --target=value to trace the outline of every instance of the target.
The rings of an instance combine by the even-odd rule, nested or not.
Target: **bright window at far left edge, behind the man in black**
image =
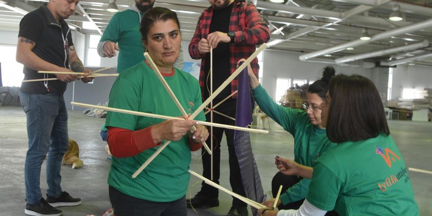
[[[21,86],[24,80],[23,65],[15,59],[16,46],[0,46],[1,81],[3,86]]]

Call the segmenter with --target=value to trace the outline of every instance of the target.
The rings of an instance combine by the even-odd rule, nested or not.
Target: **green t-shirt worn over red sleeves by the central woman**
[[[173,76],[164,79],[187,113],[193,113],[202,104],[198,81],[189,73],[175,69]],[[118,76],[111,88],[108,107],[182,116],[155,72],[144,61]],[[201,111],[195,120],[205,121],[204,112]],[[136,131],[162,121],[165,120],[108,111],[106,125]],[[168,202],[183,197],[190,178],[191,156],[187,136],[172,141],[135,179],[132,178],[132,174],[158,148],[147,149],[133,157],[112,157],[108,185],[149,201]]]

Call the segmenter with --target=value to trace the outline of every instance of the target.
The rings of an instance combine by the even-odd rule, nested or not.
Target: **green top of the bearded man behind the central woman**
[[[144,44],[139,32],[143,13],[125,10],[112,16],[100,41],[118,43],[117,71],[122,72],[144,60]]]

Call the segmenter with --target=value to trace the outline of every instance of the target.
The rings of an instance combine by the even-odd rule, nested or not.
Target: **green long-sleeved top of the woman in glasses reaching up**
[[[295,162],[313,166],[315,160],[324,151],[336,146],[336,143],[328,140],[325,129],[320,129],[310,122],[306,111],[277,105],[261,85],[252,92],[258,106],[285,131],[294,136]],[[287,189],[279,197],[282,203],[288,204],[304,199],[309,182],[309,179],[301,179],[296,185]]]

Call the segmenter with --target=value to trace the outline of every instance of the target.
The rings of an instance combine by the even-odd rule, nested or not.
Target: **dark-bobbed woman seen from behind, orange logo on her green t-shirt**
[[[259,213],[324,216],[335,209],[340,216],[419,216],[374,83],[359,75],[337,75],[320,108],[328,139],[338,144],[314,163],[306,200],[298,210]]]

